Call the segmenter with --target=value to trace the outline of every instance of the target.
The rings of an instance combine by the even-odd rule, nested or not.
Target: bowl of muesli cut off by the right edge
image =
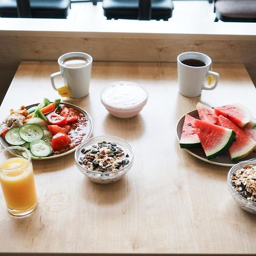
[[[229,170],[228,188],[242,209],[256,214],[256,159],[235,164]]]

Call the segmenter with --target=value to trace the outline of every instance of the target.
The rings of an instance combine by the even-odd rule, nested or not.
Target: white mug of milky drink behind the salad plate
[[[76,58],[78,61],[74,62]],[[73,65],[67,65],[68,61],[72,63],[70,60],[74,60]],[[51,75],[52,88],[58,90],[54,79],[57,76],[62,76],[64,85],[68,86],[72,98],[85,97],[89,93],[92,61],[92,56],[84,52],[68,52],[61,55],[58,59],[60,72]]]

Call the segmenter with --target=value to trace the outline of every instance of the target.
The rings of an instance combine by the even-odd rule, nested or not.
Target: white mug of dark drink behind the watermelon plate
[[[199,60],[205,65],[195,67],[184,64],[184,60]],[[177,56],[177,76],[179,83],[179,93],[187,97],[200,96],[202,90],[213,90],[218,84],[220,75],[216,72],[209,71],[212,60],[209,56],[200,52],[183,52]],[[205,85],[207,76],[215,77],[214,85]]]

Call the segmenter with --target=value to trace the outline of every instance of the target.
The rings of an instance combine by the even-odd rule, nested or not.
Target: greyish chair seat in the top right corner
[[[256,22],[256,0],[215,0],[216,21]]]

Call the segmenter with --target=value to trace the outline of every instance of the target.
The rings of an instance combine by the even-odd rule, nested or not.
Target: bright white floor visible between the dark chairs
[[[213,4],[208,1],[173,1],[174,11],[168,22],[214,22]],[[92,2],[75,2],[71,4],[68,19],[87,22],[102,22],[106,20],[103,14],[102,2],[93,5]]]

